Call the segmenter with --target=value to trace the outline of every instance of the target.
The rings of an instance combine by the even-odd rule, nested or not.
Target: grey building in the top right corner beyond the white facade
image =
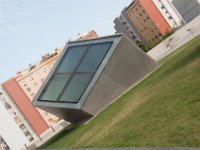
[[[173,0],[172,4],[186,23],[200,14],[199,0]]]

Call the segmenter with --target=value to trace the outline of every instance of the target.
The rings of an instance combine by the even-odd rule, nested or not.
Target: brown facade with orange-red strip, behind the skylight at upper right
[[[152,0],[136,0],[129,5],[127,12],[147,43],[157,42],[172,30]]]

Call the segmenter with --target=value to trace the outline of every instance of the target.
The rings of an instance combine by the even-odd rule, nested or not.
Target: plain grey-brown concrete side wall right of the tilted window
[[[123,37],[81,109],[96,115],[151,73],[156,66],[148,55]]]

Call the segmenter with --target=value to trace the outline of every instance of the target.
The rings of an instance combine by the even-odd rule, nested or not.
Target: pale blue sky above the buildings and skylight
[[[114,34],[132,0],[0,0],[0,83],[79,33]]]

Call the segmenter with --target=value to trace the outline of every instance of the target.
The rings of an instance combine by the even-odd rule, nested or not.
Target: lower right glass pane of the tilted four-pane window
[[[78,102],[80,96],[89,84],[92,76],[93,74],[74,75],[60,100],[66,102]]]

